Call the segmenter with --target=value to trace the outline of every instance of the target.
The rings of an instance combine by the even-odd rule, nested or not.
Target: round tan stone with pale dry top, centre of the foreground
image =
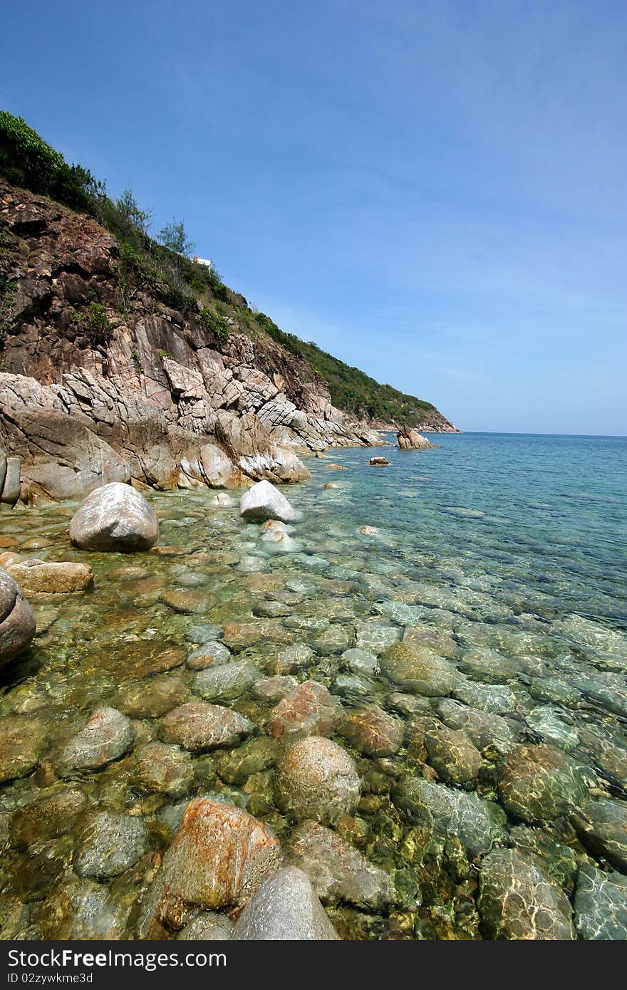
[[[276,803],[297,819],[333,824],[355,811],[361,790],[349,753],[322,737],[308,736],[289,745],[276,768]]]

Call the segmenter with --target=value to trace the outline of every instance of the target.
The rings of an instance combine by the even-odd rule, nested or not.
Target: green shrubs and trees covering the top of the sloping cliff
[[[229,322],[255,338],[267,335],[329,384],[335,406],[355,417],[384,423],[419,426],[438,418],[435,406],[391,385],[381,385],[359,368],[338,360],[309,342],[279,330],[263,313],[255,312],[244,296],[224,284],[213,268],[195,264],[184,256],[189,247],[182,222],[172,221],[159,235],[150,237],[151,213],[143,210],[130,190],[111,199],[100,182],[81,165],[69,165],[21,117],[0,110],[0,176],[13,185],[49,196],[92,217],[107,228],[119,245],[119,306],[127,312],[140,288],[150,288],[171,309],[198,315],[213,331],[217,344],[225,345]],[[98,339],[106,334],[98,324],[104,315],[91,315]]]

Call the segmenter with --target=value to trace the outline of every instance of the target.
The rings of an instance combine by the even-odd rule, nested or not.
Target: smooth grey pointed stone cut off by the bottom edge
[[[328,941],[340,937],[308,877],[287,866],[266,880],[238,918],[234,941]]]

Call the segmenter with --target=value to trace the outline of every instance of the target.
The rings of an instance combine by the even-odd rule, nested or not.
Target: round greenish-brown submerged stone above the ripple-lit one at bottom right
[[[552,821],[588,795],[585,772],[548,745],[516,745],[501,769],[498,791],[508,814],[530,825]]]

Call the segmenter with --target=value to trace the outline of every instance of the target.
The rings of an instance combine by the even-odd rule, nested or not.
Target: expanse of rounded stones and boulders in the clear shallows
[[[157,516],[114,482],[43,511],[69,525],[67,559],[6,527],[0,554],[3,938],[625,938],[619,746],[594,742],[576,699],[555,708],[567,684],[549,654],[463,648],[462,624],[453,639],[399,600],[372,615],[371,592],[360,618],[346,598],[359,570],[322,547],[309,580],[286,578],[303,516],[265,480],[241,494],[248,555],[221,610],[207,575],[236,564],[228,544],[159,539],[186,532],[184,507]],[[47,559],[25,556],[38,548]],[[103,628],[77,666],[90,599]],[[31,641],[40,677],[19,658]]]

